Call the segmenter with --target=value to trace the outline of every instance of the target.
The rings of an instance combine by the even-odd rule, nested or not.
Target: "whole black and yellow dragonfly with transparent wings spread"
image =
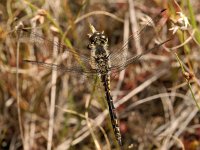
[[[36,47],[42,46],[45,49],[52,49],[52,47],[56,46],[59,52],[66,52],[68,56],[71,56],[72,60],[74,59],[73,63],[70,64],[55,64],[29,59],[24,60],[24,62],[62,72],[98,75],[104,87],[105,99],[107,101],[115,138],[119,145],[122,146],[122,136],[120,133],[119,121],[110,91],[110,75],[111,73],[116,73],[124,70],[129,64],[140,60],[143,55],[159,49],[160,46],[171,40],[167,39],[139,55],[130,55],[127,52],[130,40],[138,38],[149,29],[152,29],[152,22],[157,24],[163,17],[164,12],[165,10],[162,10],[156,17],[150,19],[136,34],[131,35],[128,41],[122,45],[121,48],[112,51],[109,50],[108,37],[105,35],[105,33],[97,31],[95,27],[90,24],[91,33],[89,34],[88,43],[88,49],[90,53],[89,55],[80,53],[76,51],[76,49],[67,47],[65,44],[60,42],[55,43],[51,40],[48,40],[37,32],[31,32],[25,28],[19,28],[18,30],[20,30],[20,38],[29,38]]]

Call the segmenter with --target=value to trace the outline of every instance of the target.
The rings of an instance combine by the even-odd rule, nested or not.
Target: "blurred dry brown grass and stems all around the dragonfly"
[[[139,30],[144,15],[154,17],[164,8],[158,35],[144,33],[139,45],[144,50],[158,37],[173,40],[111,78],[123,149],[200,149],[196,0],[1,0],[0,149],[120,149],[100,81],[58,72],[52,84],[51,70],[24,64],[23,59],[53,58],[36,55],[27,43],[17,47],[19,41],[10,33],[20,22],[80,50],[87,47],[91,23],[108,36],[109,48],[116,49],[126,31],[131,35]],[[141,52],[133,48],[134,40],[129,45],[135,54]]]

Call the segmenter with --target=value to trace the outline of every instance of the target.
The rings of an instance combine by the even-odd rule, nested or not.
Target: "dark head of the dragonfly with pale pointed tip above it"
[[[96,29],[90,25],[90,29],[92,34],[88,34],[89,36],[89,44],[88,49],[97,49],[98,47],[105,48],[108,45],[108,38],[104,34],[104,32],[98,32]]]

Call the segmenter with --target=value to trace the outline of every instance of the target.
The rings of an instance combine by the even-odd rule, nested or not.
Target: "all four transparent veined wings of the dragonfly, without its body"
[[[144,33],[146,33],[149,30],[154,30],[155,24],[159,22],[159,20],[162,18],[164,11],[161,11],[160,14],[158,14],[155,18],[153,19],[148,19],[146,24],[142,26],[141,30],[139,30],[137,33],[131,35],[129,37],[129,40],[119,49],[111,50],[109,52],[109,60],[110,60],[110,72],[118,72],[123,70],[127,65],[138,61],[143,55],[158,49],[162,44],[166,43],[168,40],[165,42],[156,45],[155,47],[144,51],[142,54],[139,54],[137,56],[132,55],[128,51],[128,45],[129,42],[132,39],[137,39],[138,37],[142,36]],[[20,38],[21,41],[29,41],[32,44],[34,44],[37,49],[40,49],[40,52],[45,54],[45,58],[52,57],[52,49],[53,47],[57,47],[57,51],[61,55],[67,56],[67,58],[71,59],[71,63],[66,63],[68,61],[67,58],[64,59],[63,61],[59,61],[58,64],[53,64],[53,63],[46,63],[45,58],[41,58],[41,56],[37,57],[37,60],[25,60],[27,63],[31,63],[33,65],[39,65],[41,67],[45,67],[48,69],[53,69],[53,70],[58,70],[62,72],[73,72],[73,73],[86,73],[86,74],[97,74],[98,71],[94,69],[95,64],[92,64],[93,61],[90,56],[89,50],[79,50],[75,48],[69,48],[65,46],[63,43],[59,42],[53,42],[52,40],[46,39],[40,34],[36,32],[30,32],[29,30],[26,29],[21,29],[20,31]],[[25,39],[25,40],[24,40]],[[62,59],[62,57],[61,57]]]

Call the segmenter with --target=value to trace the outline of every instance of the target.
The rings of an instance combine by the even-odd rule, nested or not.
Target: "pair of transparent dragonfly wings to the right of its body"
[[[143,25],[142,28],[139,31],[137,31],[135,34],[131,35],[129,39],[127,40],[127,42],[120,49],[112,50],[110,52],[109,57],[110,57],[110,62],[111,62],[111,70],[112,69],[123,70],[128,64],[139,60],[139,58],[142,55],[145,55],[146,53],[152,50],[155,50],[155,48],[152,48],[140,55],[134,56],[128,51],[128,44],[130,40],[137,39],[138,37],[142,36],[144,33],[149,32],[151,30],[155,30],[155,25],[158,24],[159,20],[163,17],[164,12],[165,10],[161,11],[160,14],[158,14],[153,19],[148,18],[146,24]]]

